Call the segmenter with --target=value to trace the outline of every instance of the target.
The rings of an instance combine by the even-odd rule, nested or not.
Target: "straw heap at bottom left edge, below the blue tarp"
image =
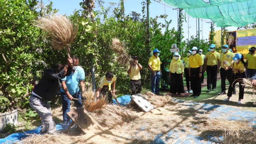
[[[23,144],[73,144],[71,136],[65,134],[26,134],[28,137],[22,139]]]

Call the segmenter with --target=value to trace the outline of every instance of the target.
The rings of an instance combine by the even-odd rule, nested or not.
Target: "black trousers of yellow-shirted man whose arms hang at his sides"
[[[216,88],[217,84],[217,65],[214,66],[206,66],[206,73],[207,73],[207,89]]]

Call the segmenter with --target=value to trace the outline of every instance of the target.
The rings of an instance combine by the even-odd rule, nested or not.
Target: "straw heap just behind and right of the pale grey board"
[[[166,104],[174,104],[173,100],[169,96],[157,96],[151,91],[144,92],[142,96],[156,107],[162,107]]]

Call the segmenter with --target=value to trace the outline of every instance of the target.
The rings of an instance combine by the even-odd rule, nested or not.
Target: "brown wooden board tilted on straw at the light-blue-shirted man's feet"
[[[103,129],[97,121],[92,116],[87,115],[87,113],[88,112],[83,108],[79,108],[68,112],[67,115],[85,134],[88,133],[88,131],[93,131],[95,128]]]

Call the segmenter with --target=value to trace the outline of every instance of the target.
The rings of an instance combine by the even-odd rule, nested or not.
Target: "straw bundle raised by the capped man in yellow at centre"
[[[130,63],[130,60],[132,60],[124,47],[122,46],[121,42],[118,39],[112,39],[112,45],[110,46],[111,49],[114,50],[114,52],[118,55],[116,58],[116,61],[122,64],[123,66],[127,66]]]

